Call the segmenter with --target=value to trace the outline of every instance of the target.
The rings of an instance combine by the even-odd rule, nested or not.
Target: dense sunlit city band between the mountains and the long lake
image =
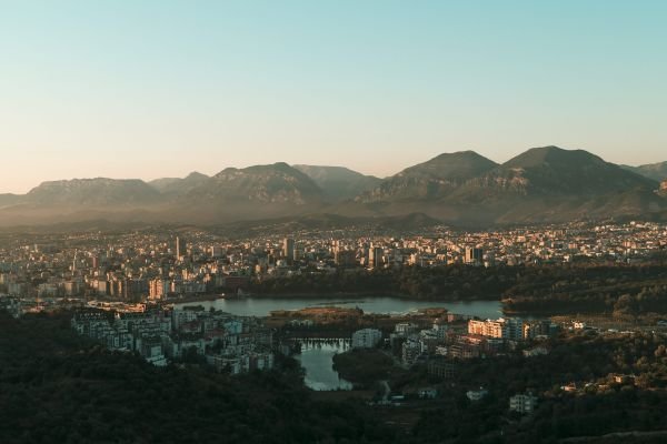
[[[0,294],[22,312],[49,306],[242,295],[257,283],[405,266],[640,264],[667,246],[658,223],[575,223],[494,232],[446,228],[415,236],[342,231],[228,240],[203,230],[4,236]],[[447,295],[439,295],[447,296]],[[494,299],[489,295],[488,299]],[[17,305],[18,306],[18,305]]]

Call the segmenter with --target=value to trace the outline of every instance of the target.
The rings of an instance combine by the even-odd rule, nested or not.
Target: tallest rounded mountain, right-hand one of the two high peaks
[[[566,222],[658,211],[666,202],[656,188],[587,151],[542,147],[468,182],[449,202],[497,223]]]

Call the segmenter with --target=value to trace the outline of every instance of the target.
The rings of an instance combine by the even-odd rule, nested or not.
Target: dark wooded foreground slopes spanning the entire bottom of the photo
[[[437,386],[436,400],[408,394],[401,405],[371,406],[354,396],[318,401],[295,361],[282,360],[280,372],[241,377],[193,364],[157,369],[76,336],[67,313],[21,320],[0,313],[0,442],[664,442],[664,336],[571,332],[541,344],[547,355],[517,351],[455,362],[448,380],[417,365],[391,389]],[[635,377],[617,382],[616,374]],[[569,383],[576,393],[560,389]],[[479,386],[488,395],[469,401],[466,392]],[[509,412],[509,396],[528,391],[539,396],[535,412]]]

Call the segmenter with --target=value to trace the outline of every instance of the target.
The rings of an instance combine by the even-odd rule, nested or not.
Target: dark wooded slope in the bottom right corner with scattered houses
[[[414,428],[415,442],[559,442],[576,436],[664,430],[667,420],[667,341],[654,334],[566,334],[546,345],[548,355],[510,354],[460,364],[437,408]],[[635,375],[624,382],[615,375]],[[575,392],[563,386],[574,383]],[[470,402],[467,387],[488,396]],[[540,397],[534,415],[508,411],[509,397]]]

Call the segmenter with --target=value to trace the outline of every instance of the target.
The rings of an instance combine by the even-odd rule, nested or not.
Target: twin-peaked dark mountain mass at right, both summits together
[[[441,155],[405,170],[358,201],[385,215],[422,212],[461,225],[604,219],[667,208],[667,200],[655,193],[655,181],[586,151],[535,148],[501,165],[479,158],[469,152]],[[459,169],[444,168],[447,160]]]

